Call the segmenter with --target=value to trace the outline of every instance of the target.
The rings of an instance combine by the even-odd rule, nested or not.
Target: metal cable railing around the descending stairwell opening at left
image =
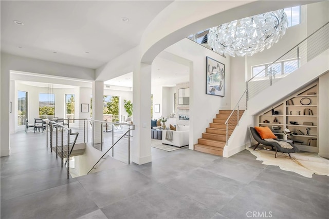
[[[58,123],[56,120],[44,121],[47,122],[47,147],[49,146],[51,148],[51,152],[56,152],[56,157],[59,156],[62,159],[62,166],[67,167],[68,177],[70,171],[70,162],[68,161],[72,160],[72,162],[75,162],[76,169],[78,169],[77,162],[82,162],[83,160],[82,158],[75,159],[75,156],[92,155],[93,158],[89,157],[87,159],[89,162],[88,164],[79,164],[80,166],[85,166],[84,168],[89,169],[98,160],[100,155],[98,155],[98,157],[96,156],[99,152],[89,153],[89,155],[86,154],[87,151],[85,149],[90,146],[100,152],[106,151],[102,157],[109,154],[109,152],[112,152],[112,157],[116,160],[127,164],[130,163],[130,144],[132,140],[131,131],[135,128],[132,124],[88,119],[64,119],[63,124],[69,124],[69,127],[67,127]],[[88,165],[90,166],[88,167]],[[92,169],[96,169],[96,165],[99,167],[101,164],[97,162]],[[74,163],[72,166],[74,166]],[[71,170],[75,171],[74,169]],[[80,172],[85,172],[84,174],[86,174],[86,171]],[[72,172],[72,174],[75,173]]]

